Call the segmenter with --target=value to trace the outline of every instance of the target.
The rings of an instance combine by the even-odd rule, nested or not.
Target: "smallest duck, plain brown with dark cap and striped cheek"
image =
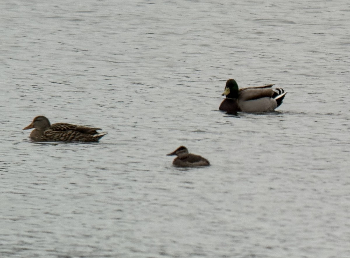
[[[174,155],[177,156],[173,161],[173,165],[175,167],[197,167],[210,165],[208,159],[196,154],[188,153],[188,149],[184,146],[180,146],[173,152],[167,154],[167,156]]]

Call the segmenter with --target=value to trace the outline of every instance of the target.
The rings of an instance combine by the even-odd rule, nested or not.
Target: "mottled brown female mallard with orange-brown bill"
[[[29,138],[33,141],[98,142],[107,133],[98,133],[100,128],[91,128],[68,123],[50,124],[45,116],[37,116],[23,130],[32,129]]]

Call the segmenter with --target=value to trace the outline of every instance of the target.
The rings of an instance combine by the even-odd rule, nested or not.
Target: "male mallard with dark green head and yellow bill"
[[[222,95],[226,95],[226,99],[221,102],[219,110],[228,113],[242,112],[268,112],[282,104],[287,94],[283,89],[277,88],[274,91],[271,87],[274,84],[265,86],[248,87],[238,89],[237,82],[229,79],[226,82],[225,91]]]

